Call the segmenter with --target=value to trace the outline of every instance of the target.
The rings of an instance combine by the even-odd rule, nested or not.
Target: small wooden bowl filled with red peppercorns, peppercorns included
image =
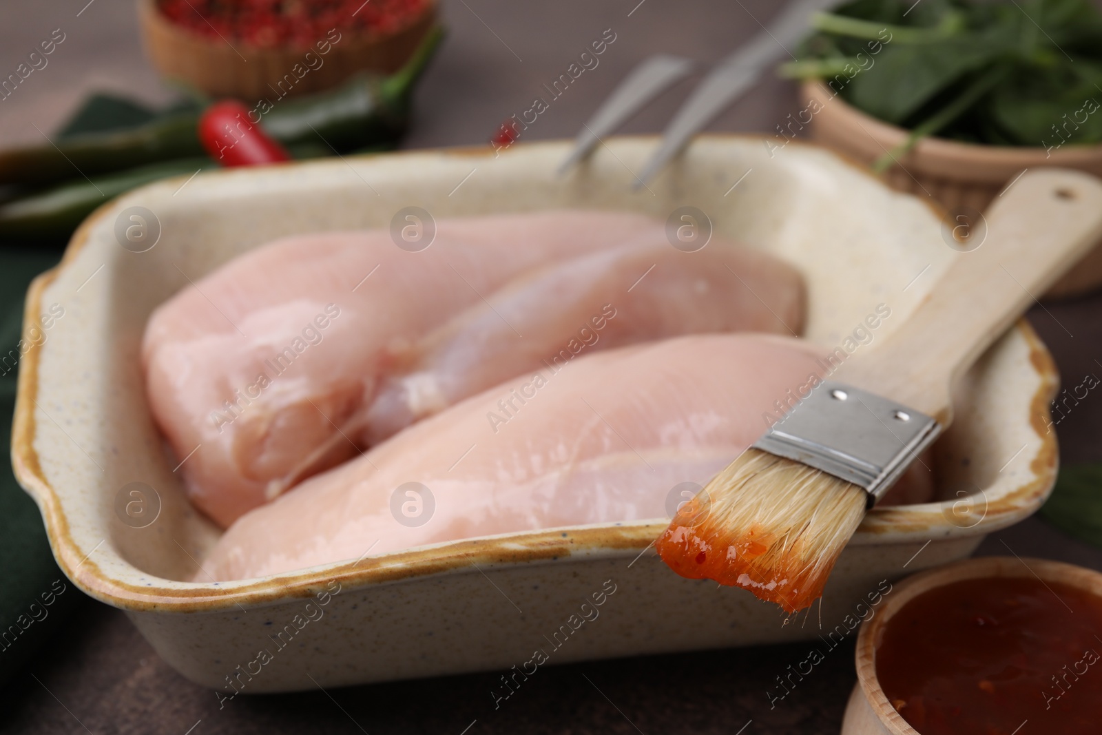
[[[435,0],[138,0],[145,52],[165,77],[245,100],[318,91],[396,72]]]

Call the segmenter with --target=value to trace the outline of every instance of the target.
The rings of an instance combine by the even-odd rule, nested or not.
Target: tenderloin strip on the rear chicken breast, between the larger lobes
[[[648,231],[525,273],[411,347],[368,410],[371,443],[491,386],[574,355],[684,334],[803,326],[786,263],[719,241],[698,252]]]

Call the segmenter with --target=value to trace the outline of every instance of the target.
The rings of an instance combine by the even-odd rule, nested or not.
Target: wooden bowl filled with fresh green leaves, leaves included
[[[780,69],[803,86],[776,145],[808,127],[964,233],[1023,170],[1102,175],[1102,13],[1089,0],[1038,9],[882,0],[817,13]],[[1102,244],[1047,295],[1100,285]]]

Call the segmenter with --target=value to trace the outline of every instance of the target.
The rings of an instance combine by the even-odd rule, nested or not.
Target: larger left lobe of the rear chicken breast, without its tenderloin
[[[185,287],[151,316],[142,357],[192,501],[228,526],[354,455],[333,437],[366,410],[390,350],[522,271],[656,227],[597,212],[442,219],[420,252],[387,230],[303,235]]]

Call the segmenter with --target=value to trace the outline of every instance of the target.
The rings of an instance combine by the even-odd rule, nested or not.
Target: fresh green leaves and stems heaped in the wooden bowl
[[[1102,142],[1102,13],[1090,0],[856,0],[818,13],[782,76],[926,136],[1056,150]]]

